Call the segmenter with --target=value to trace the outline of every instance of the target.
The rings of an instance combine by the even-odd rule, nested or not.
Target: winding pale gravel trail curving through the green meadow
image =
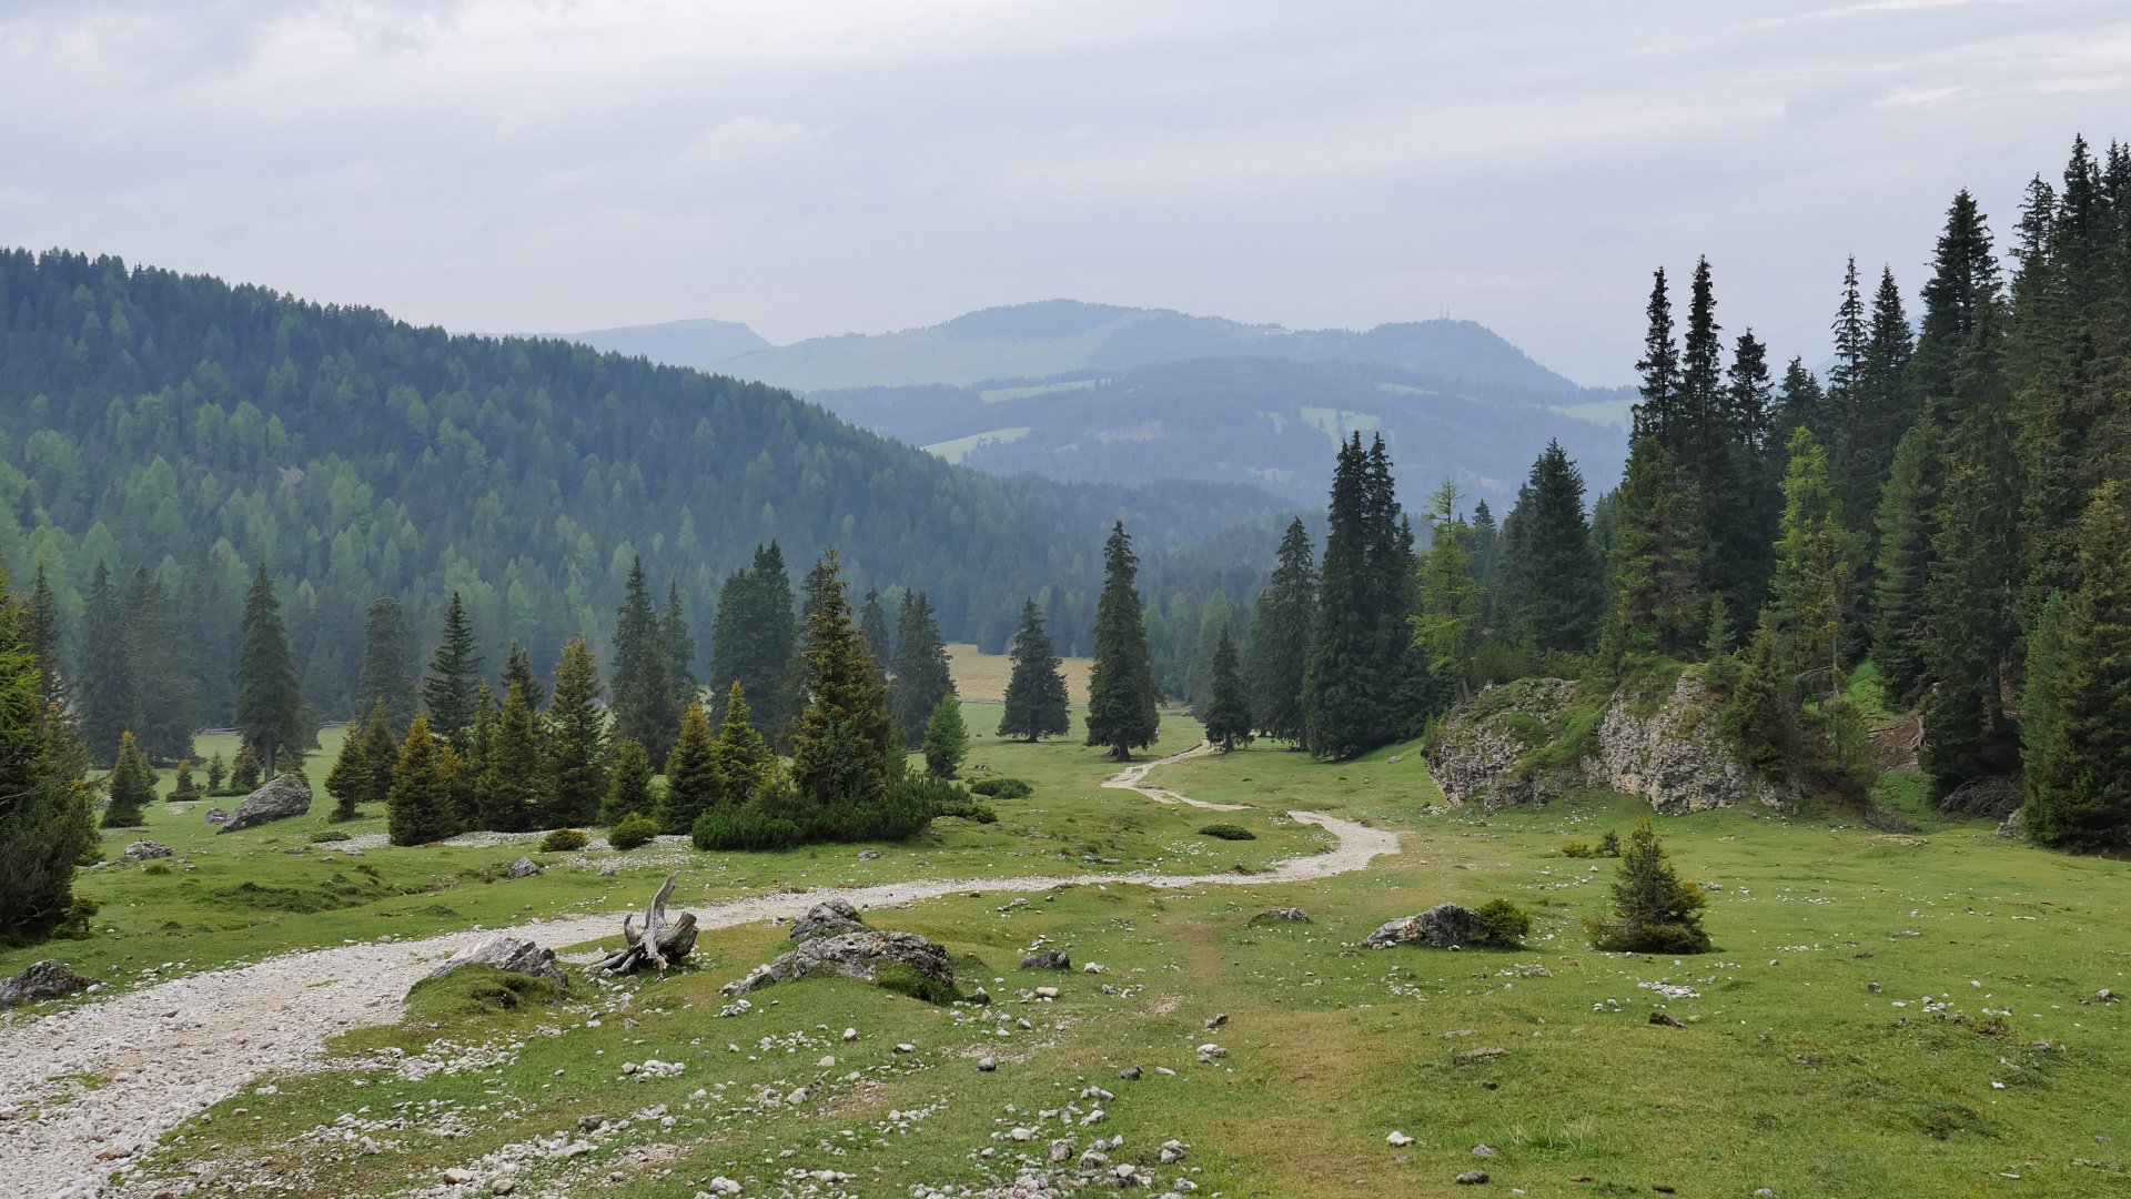
[[[1144,762],[1106,781],[1159,802],[1208,804],[1142,787],[1146,772],[1168,762]],[[840,896],[861,907],[886,907],[955,892],[1038,892],[1059,883],[1144,883],[1198,888],[1213,883],[1296,883],[1362,870],[1383,853],[1398,853],[1398,834],[1321,813],[1291,811],[1291,819],[1323,826],[1338,847],[1311,858],[1289,858],[1259,875],[1025,875],[1016,879],[921,879],[876,888],[820,888],[771,894],[693,909],[703,928],[729,928],[774,917],[795,917]],[[656,885],[644,875],[644,894]],[[622,913],[541,920],[507,928],[548,947],[599,937],[618,939]],[[0,1178],[11,1195],[87,1199],[100,1195],[109,1171],[192,1114],[237,1094],[271,1071],[300,1069],[324,1056],[328,1037],[401,1018],[401,996],[430,962],[467,941],[499,930],[454,932],[426,941],[358,943],[286,954],[256,966],[215,971],[51,1016],[13,1013],[0,1022]],[[98,1075],[111,1082],[87,1090],[51,1075]],[[68,1103],[36,1107],[45,1097]],[[21,1105],[11,1114],[11,1105]]]

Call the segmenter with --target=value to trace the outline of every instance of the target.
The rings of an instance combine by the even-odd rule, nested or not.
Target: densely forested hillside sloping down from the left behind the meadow
[[[117,258],[0,254],[9,572],[23,593],[45,572],[75,666],[100,563],[115,591],[153,595],[200,725],[230,721],[258,565],[332,719],[377,595],[401,597],[426,657],[458,591],[488,672],[511,640],[546,672],[578,632],[605,651],[641,557],[707,655],[722,576],[778,540],[795,563],[837,546],[857,593],[927,591],[948,638],[991,651],[1036,595],[1074,653],[1112,521],[1161,578],[1164,550],[1274,508],[1247,486],[1002,480],[763,384]]]

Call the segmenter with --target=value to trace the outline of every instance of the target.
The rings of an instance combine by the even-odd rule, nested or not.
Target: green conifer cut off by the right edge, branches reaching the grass
[[[2116,482],[2086,506],[2080,574],[2024,824],[2044,845],[2122,849],[2131,843],[2131,527]]]

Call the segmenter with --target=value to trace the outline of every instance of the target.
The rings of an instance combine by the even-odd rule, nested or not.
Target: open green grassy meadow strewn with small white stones
[[[982,728],[974,713],[972,728]],[[1164,730],[1168,753],[1198,732],[1176,717]],[[991,1007],[835,979],[769,988],[746,1013],[720,1016],[718,986],[786,945],[765,924],[707,932],[663,981],[578,975],[554,1007],[499,1011],[445,988],[401,1024],[339,1037],[332,1069],[262,1077],[215,1105],[213,1122],[166,1137],[145,1173],[209,1165],[207,1195],[448,1193],[435,1188],[452,1167],[488,1193],[507,1161],[520,1165],[518,1195],[690,1199],[714,1176],[742,1180],[746,1195],[961,1195],[1010,1182],[1023,1163],[1048,1169],[1059,1137],[1074,1150],[1123,1137],[1106,1152],[1153,1173],[1151,1195],[1181,1180],[1221,1197],[1449,1195],[1470,1169],[1498,1193],[1534,1197],[2131,1190],[2120,1152],[2131,1054],[2120,1007],[2097,998],[2127,988],[2125,866],[2001,841],[1986,821],[1939,821],[1914,806],[1905,774],[1884,779],[1882,796],[1912,804],[1918,836],[1739,809],[1660,821],[1683,877],[1722,888],[1707,920],[1718,952],[1660,960],[1585,947],[1579,917],[1603,911],[1613,864],[1560,856],[1647,811],[1622,796],[1430,815],[1441,796],[1415,747],[1349,764],[1253,747],[1149,779],[1257,804],[1240,813],[1102,789],[1112,766],[1076,738],[985,738],[972,764],[1038,792],[1002,802],[999,826],[940,821],[874,862],[857,860],[863,847],[641,849],[620,856],[620,877],[548,856],[565,868],[501,881],[518,845],[328,862],[330,845],[286,853],[324,826],[288,821],[222,845],[190,828],[196,815],[158,811],[151,836],[198,868],[87,873],[83,890],[107,902],[100,928],[115,932],[34,956],[134,977],[143,964],[190,962],[175,973],[298,943],[618,911],[676,866],[688,907],[771,883],[1061,879],[1027,902],[972,883],[867,913],[876,928],[942,941],[963,986],[980,981],[999,1001]],[[1404,851],[1308,883],[1104,881],[1149,866],[1255,870],[1317,849],[1321,832],[1285,821],[1285,809],[1406,830]],[[1208,819],[1259,838],[1198,836]],[[1125,864],[1085,866],[1083,847]],[[1385,920],[1487,898],[1534,909],[1526,949],[1355,947]],[[1251,920],[1289,905],[1311,924]],[[1038,943],[1104,973],[1019,969]],[[9,954],[0,969],[30,958]],[[1014,998],[1040,984],[1061,990],[1055,1003]],[[1654,1011],[1683,1026],[1654,1026]],[[1217,1013],[1230,1020],[1208,1030]],[[1227,1054],[1200,1060],[1208,1041]],[[978,1056],[995,1056],[997,1071],[980,1073]],[[646,1058],[682,1069],[622,1071]],[[1119,1077],[1134,1065],[1138,1082]],[[793,1103],[803,1086],[818,1090]],[[1089,1086],[1115,1099],[1083,1097]],[[1083,1124],[1097,1107],[1104,1118]],[[578,1144],[588,1114],[633,1122],[582,1137],[578,1156],[526,1156],[537,1141]],[[1014,1129],[1031,1139],[1010,1139]],[[1387,1144],[1394,1131],[1413,1144]],[[1181,1163],[1159,1161],[1170,1139],[1187,1146]],[[829,1186],[793,1169],[850,1178]]]

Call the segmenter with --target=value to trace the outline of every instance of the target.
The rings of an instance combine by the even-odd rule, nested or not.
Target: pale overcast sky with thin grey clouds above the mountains
[[[1477,320],[1634,380],[1652,269],[1828,352],[2131,139],[2118,2],[0,4],[0,245],[471,333],[1036,299]]]

